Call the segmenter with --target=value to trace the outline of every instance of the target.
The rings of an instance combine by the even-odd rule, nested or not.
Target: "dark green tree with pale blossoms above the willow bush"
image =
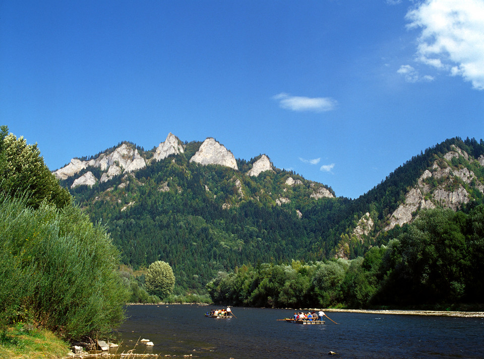
[[[62,208],[71,203],[71,195],[59,186],[57,179],[44,165],[37,144],[27,145],[23,137],[7,134],[0,127],[0,192],[27,195],[27,204],[38,208],[48,201]]]

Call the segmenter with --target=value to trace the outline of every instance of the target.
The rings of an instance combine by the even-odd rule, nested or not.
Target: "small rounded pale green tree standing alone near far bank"
[[[151,295],[160,298],[168,297],[175,286],[175,276],[171,266],[161,260],[151,263],[146,273],[145,283]]]

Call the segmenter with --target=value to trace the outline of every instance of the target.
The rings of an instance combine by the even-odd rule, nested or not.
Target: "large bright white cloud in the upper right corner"
[[[484,0],[420,1],[406,19],[421,29],[418,61],[484,90]]]

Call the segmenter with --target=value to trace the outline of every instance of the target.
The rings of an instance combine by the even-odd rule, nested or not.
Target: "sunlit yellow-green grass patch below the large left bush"
[[[52,332],[22,323],[0,332],[0,359],[62,359],[69,344]]]

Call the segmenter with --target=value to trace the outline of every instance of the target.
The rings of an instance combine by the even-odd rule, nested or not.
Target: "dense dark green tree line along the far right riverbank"
[[[480,308],[483,263],[484,205],[429,209],[364,256],[242,265],[207,290],[215,303],[255,307]]]

